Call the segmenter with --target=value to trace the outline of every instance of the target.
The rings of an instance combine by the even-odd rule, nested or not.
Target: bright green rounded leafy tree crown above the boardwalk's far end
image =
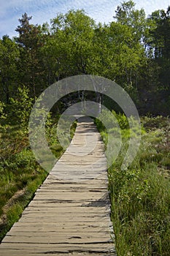
[[[56,61],[63,67],[58,70],[61,76],[88,74],[90,58],[93,56],[93,19],[85,15],[83,10],[71,10],[66,15],[58,15],[51,22],[51,42],[55,52],[58,52]]]

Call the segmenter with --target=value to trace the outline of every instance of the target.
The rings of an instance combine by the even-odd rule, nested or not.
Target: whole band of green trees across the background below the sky
[[[169,115],[170,7],[146,17],[126,1],[109,24],[96,24],[84,10],[70,10],[40,26],[25,13],[16,31],[18,37],[0,39],[4,105],[17,100],[18,89],[35,100],[58,80],[90,74],[115,80],[139,113]]]

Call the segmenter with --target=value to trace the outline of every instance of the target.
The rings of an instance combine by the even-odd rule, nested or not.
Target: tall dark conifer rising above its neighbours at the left
[[[24,84],[30,90],[31,97],[34,100],[39,95],[42,88],[45,88],[45,82],[42,80],[44,70],[42,69],[42,46],[45,43],[44,28],[34,26],[30,23],[31,17],[25,13],[22,15],[20,26],[16,31],[19,37],[15,37],[15,42],[20,50],[20,59],[18,69],[20,70],[19,84]],[[41,88],[39,85],[41,84]]]

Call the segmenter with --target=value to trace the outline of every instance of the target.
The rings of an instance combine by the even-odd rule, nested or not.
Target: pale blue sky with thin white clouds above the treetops
[[[0,37],[8,34],[16,36],[15,28],[18,19],[24,12],[32,16],[31,23],[50,23],[58,12],[66,13],[70,9],[84,9],[96,22],[109,23],[113,20],[117,5],[120,0],[0,0]],[[164,9],[170,5],[169,0],[134,0],[136,8],[144,8],[146,14],[154,10]]]

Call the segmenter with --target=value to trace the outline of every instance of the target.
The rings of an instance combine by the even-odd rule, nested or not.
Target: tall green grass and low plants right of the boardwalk
[[[96,124],[107,141],[107,131],[100,122]],[[134,162],[127,170],[120,170],[128,146],[126,127],[120,155],[108,172],[117,256],[168,256],[170,119],[145,117],[142,124],[141,145]]]

